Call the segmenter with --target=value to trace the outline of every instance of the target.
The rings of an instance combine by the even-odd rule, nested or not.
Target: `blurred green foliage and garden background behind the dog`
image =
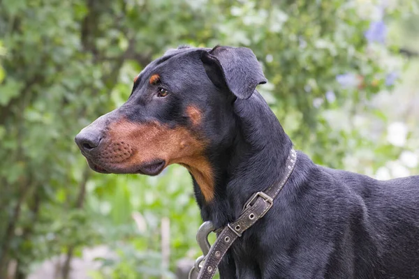
[[[177,278],[200,255],[186,169],[96,174],[73,142],[178,45],[251,47],[258,90],[315,163],[419,174],[418,14],[418,0],[0,0],[0,278]]]

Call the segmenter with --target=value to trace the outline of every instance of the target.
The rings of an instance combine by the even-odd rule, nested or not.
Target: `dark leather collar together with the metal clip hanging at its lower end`
[[[271,209],[275,197],[277,197],[282,188],[284,188],[291,176],[296,162],[297,153],[294,149],[291,149],[290,155],[286,160],[288,172],[284,179],[278,184],[272,184],[265,192],[258,192],[252,195],[244,205],[240,217],[237,218],[235,222],[228,223],[228,225],[223,228],[212,247],[207,240],[207,236],[211,232],[214,232],[212,223],[208,221],[200,226],[196,239],[201,250],[203,250],[204,255],[196,259],[195,266],[193,266],[189,273],[189,279],[212,279],[221,259],[223,259],[223,256],[228,251],[228,248],[233,245],[234,241],[242,236],[245,230],[249,229],[249,227],[265,216],[267,211]]]

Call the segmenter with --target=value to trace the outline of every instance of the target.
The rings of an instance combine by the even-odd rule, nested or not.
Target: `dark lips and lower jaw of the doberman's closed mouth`
[[[103,167],[94,163],[93,160],[89,158],[87,158],[87,163],[91,169],[101,174],[145,174],[149,176],[156,176],[166,167],[166,161],[161,159],[152,160],[149,163],[143,163],[140,167],[131,167],[126,169],[117,166]]]

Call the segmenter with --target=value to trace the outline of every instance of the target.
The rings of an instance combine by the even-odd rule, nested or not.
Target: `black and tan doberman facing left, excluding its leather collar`
[[[234,221],[284,177],[292,142],[256,91],[244,47],[179,47],[135,77],[126,103],[75,137],[91,169],[159,174],[180,164],[203,220]],[[297,163],[274,206],[235,242],[221,278],[419,278],[419,176],[377,181]]]

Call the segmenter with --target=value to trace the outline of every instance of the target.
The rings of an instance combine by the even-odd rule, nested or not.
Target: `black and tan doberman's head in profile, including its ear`
[[[228,142],[234,100],[265,82],[247,48],[179,47],[149,63],[126,103],[82,129],[75,142],[96,172],[156,175],[178,163],[210,188],[209,151]]]

